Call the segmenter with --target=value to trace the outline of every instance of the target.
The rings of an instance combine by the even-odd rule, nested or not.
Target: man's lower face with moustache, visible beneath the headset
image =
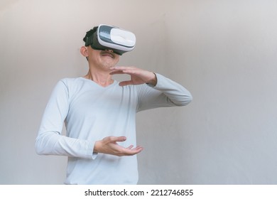
[[[113,53],[112,50],[94,50],[87,46],[89,64],[102,69],[107,69],[115,66],[119,62],[119,55]]]

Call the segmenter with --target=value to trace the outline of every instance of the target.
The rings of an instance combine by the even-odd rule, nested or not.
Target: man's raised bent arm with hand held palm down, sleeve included
[[[185,106],[192,101],[192,95],[182,85],[158,73],[135,67],[118,66],[111,68],[111,74],[127,74],[131,80],[120,82],[119,85],[142,85],[139,88],[139,108],[152,109],[157,107]]]

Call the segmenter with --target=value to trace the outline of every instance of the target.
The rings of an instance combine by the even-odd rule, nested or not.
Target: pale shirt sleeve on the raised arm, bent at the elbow
[[[185,106],[192,95],[182,85],[156,73],[157,85],[141,85],[138,90],[137,112],[158,107]]]

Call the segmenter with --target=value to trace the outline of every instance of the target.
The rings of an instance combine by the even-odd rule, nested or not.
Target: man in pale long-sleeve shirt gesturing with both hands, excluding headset
[[[136,146],[136,112],[184,106],[192,100],[190,92],[163,75],[116,66],[120,55],[114,50],[95,50],[86,43],[80,52],[88,60],[89,71],[55,86],[40,124],[36,151],[68,156],[65,184],[136,184],[136,154],[143,150]],[[117,82],[114,74],[131,79]],[[61,135],[63,122],[66,136]]]

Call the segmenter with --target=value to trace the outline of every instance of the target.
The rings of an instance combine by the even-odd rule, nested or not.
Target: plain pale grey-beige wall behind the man
[[[276,11],[276,0],[1,0],[0,183],[63,184],[67,158],[35,152],[40,119],[58,80],[86,74],[86,31],[107,23],[136,34],[119,65],[193,96],[137,114],[139,184],[277,184]]]

